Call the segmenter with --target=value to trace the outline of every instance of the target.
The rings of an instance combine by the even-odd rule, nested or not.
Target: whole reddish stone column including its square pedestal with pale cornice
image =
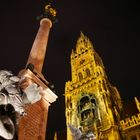
[[[44,85],[44,77],[41,71],[51,26],[52,22],[47,17],[40,21],[40,27],[27,61],[27,66],[31,63],[35,71],[24,69],[23,73],[19,73],[19,76],[27,76],[33,80],[35,78],[36,81],[42,83],[42,85]],[[41,81],[40,78],[43,78],[43,80]],[[38,85],[40,86],[40,84]],[[26,105],[25,107],[27,115],[21,117],[19,121],[18,140],[45,140],[48,109],[50,104],[56,100],[57,96],[49,89],[48,85],[44,87],[45,89],[43,90],[44,93],[41,94],[41,100],[34,104]]]

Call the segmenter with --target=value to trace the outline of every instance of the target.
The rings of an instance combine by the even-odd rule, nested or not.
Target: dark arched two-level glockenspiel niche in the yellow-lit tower
[[[84,94],[78,101],[78,117],[81,126],[90,126],[97,118],[96,99],[89,94]]]

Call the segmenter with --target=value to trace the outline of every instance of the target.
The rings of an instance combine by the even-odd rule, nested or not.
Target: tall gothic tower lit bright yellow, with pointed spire
[[[67,140],[69,126],[93,133],[97,140],[119,140],[122,103],[116,87],[108,81],[104,65],[90,40],[81,33],[71,53],[71,81],[65,85]]]

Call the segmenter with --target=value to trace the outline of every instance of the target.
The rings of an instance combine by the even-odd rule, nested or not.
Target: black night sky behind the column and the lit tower
[[[71,79],[70,53],[80,31],[93,42],[123,101],[139,96],[140,8],[134,0],[0,0],[0,69],[17,74],[24,68],[39,28],[36,17],[49,2],[58,11],[43,68],[59,96],[49,110],[51,135],[65,127],[64,87]]]

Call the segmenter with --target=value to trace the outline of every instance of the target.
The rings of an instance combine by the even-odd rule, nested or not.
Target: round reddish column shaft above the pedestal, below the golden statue
[[[32,63],[38,72],[42,71],[51,27],[52,22],[50,19],[43,18],[40,21],[40,27],[27,61],[27,65]]]

